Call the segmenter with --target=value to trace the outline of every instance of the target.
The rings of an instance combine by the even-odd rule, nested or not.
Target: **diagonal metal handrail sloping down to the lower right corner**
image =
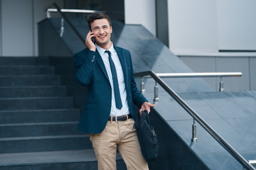
[[[153,71],[147,71],[147,72],[139,72],[134,74],[136,77],[145,77],[150,76],[152,77],[160,86],[169,94],[171,95],[175,101],[178,102],[178,104],[183,107],[217,142],[220,143],[245,169],[255,170],[255,168],[247,162],[247,160],[242,157],[228,142],[226,142],[223,137],[221,137],[218,132],[215,132],[213,128],[206,123],[203,118],[201,118],[196,111],[193,111],[193,109],[188,106],[188,104],[182,100],[178,94],[176,94],[156,73]]]

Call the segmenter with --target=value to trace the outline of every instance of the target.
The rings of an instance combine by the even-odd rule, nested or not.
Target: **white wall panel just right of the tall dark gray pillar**
[[[168,0],[169,47],[176,54],[217,52],[216,1]]]

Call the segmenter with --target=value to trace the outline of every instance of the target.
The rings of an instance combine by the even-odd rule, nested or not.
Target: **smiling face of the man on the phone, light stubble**
[[[111,45],[110,36],[112,26],[107,19],[98,19],[91,23],[92,33],[95,35],[97,45],[108,50]]]

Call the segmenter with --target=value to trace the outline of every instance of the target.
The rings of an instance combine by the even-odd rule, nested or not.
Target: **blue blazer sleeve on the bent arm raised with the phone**
[[[90,50],[82,50],[73,57],[75,79],[82,86],[87,86],[92,80],[95,69],[96,52]]]

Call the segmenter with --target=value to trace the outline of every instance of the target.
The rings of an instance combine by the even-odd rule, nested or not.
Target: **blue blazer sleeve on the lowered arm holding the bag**
[[[131,64],[131,91],[132,91],[132,101],[138,108],[142,107],[142,104],[147,101],[146,98],[143,96],[143,94],[139,93],[139,90],[137,89],[137,84],[134,79],[134,72],[132,67],[132,57],[129,53],[130,58],[130,64]]]

